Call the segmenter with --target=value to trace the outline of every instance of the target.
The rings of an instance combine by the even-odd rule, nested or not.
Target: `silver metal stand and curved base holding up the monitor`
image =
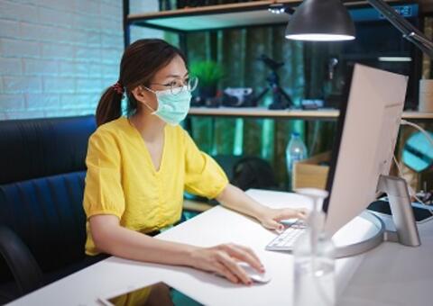
[[[383,220],[369,211],[364,211],[359,217],[373,224],[373,235],[355,243],[336,247],[336,258],[351,257],[377,247],[383,241],[399,242],[404,246],[419,247],[418,228],[411,208],[408,186],[400,177],[381,175],[377,191],[387,193],[392,211],[395,231],[385,229]],[[342,228],[341,230],[345,230]],[[336,235],[339,233],[337,232]]]

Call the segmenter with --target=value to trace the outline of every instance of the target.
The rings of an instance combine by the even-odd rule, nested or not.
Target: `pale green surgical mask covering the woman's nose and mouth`
[[[158,109],[153,111],[152,108],[145,103],[145,105],[152,110],[152,114],[161,118],[161,120],[171,124],[178,125],[180,121],[187,117],[189,112],[189,103],[191,101],[191,93],[187,86],[179,87],[178,91],[173,94],[171,89],[153,91],[146,88],[153,94],[156,94],[158,101]]]

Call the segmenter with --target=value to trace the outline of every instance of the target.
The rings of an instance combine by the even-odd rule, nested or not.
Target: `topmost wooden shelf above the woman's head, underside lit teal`
[[[399,0],[385,0],[398,3]],[[174,32],[210,31],[287,24],[288,14],[272,14],[270,4],[299,5],[300,0],[253,1],[240,4],[219,4],[187,7],[179,10],[146,14],[128,14],[127,23],[147,28]],[[400,1],[401,2],[401,1]],[[366,1],[345,1],[346,6],[366,5]]]

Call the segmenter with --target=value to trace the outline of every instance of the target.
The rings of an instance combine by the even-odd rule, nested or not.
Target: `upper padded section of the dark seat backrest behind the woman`
[[[86,170],[94,116],[0,121],[0,184]]]

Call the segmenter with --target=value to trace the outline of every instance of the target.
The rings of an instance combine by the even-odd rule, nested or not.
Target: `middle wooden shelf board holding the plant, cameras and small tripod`
[[[206,108],[206,107],[191,107],[189,110],[190,116],[216,116],[216,117],[247,117],[247,118],[291,118],[304,120],[333,120],[339,115],[338,110],[318,110],[318,111],[302,111],[302,110],[281,110],[272,111],[266,108],[251,107],[251,108]],[[403,112],[403,119],[409,120],[433,120],[433,112]]]

